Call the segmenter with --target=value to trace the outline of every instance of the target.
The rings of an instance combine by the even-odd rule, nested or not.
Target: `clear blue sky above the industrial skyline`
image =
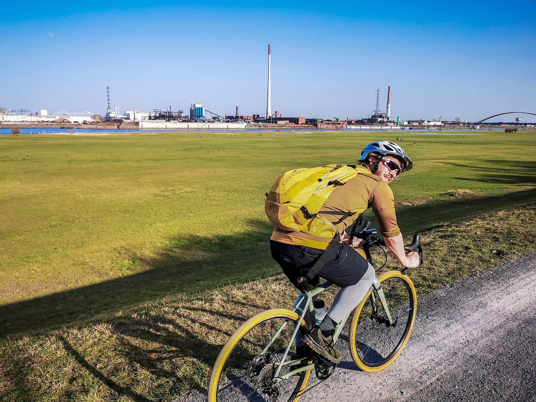
[[[536,113],[536,1],[0,6],[0,107],[480,120]],[[525,117],[523,117],[525,118]],[[528,120],[534,121],[527,117]]]

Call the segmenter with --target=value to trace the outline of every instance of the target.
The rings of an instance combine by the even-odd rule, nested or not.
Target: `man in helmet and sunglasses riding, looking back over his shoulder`
[[[312,326],[309,332],[302,335],[301,340],[296,341],[296,354],[299,358],[306,355],[305,343],[324,358],[334,363],[340,362],[341,354],[333,344],[335,328],[363,300],[375,278],[373,266],[352,249],[359,244],[358,240],[354,239],[353,244],[348,244],[349,237],[345,229],[358,217],[345,215],[341,220],[340,212],[370,207],[376,215],[378,229],[385,244],[400,264],[408,268],[419,266],[419,254],[406,254],[404,251],[403,237],[394,211],[393,193],[388,185],[402,172],[413,167],[412,160],[397,144],[376,141],[363,148],[359,162],[368,168],[370,174],[358,174],[345,185],[333,190],[322,211],[318,213],[318,216],[332,222],[342,235],[337,252],[322,266],[314,282],[318,284],[319,277],[323,277],[341,289],[323,321]],[[274,229],[270,239],[273,259],[300,290],[297,278],[307,273],[328,244],[329,241],[324,237],[286,232],[278,228]]]

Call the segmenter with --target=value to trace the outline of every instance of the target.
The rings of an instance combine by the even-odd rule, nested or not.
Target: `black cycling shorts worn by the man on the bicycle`
[[[287,278],[296,286],[297,278],[307,274],[315,265],[324,250],[292,245],[270,240],[272,258],[277,261]],[[340,287],[355,285],[368,269],[368,262],[358,252],[346,243],[340,243],[339,248],[327,261],[310,283],[317,285],[319,277],[329,280]]]

